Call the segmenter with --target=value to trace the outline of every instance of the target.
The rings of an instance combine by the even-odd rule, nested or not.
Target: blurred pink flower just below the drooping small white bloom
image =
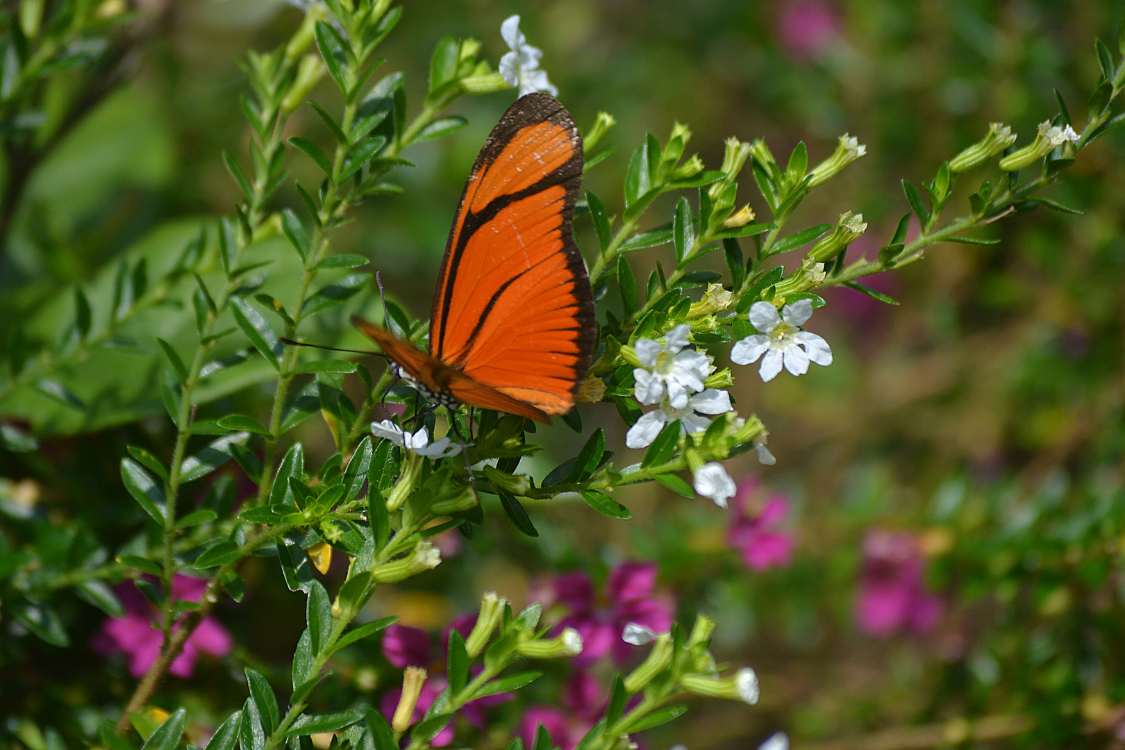
[[[727,544],[742,555],[742,561],[750,570],[768,570],[785,568],[793,557],[796,542],[793,537],[776,527],[789,515],[789,499],[784,495],[774,494],[765,498],[757,480],[749,478],[738,486],[731,505],[730,528],[727,530]]]

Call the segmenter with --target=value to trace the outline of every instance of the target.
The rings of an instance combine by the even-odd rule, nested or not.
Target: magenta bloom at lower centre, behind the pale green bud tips
[[[564,573],[546,586],[529,593],[531,600],[544,607],[562,605],[568,614],[558,631],[574,627],[582,635],[582,653],[574,658],[576,667],[588,667],[612,652],[616,663],[629,658],[632,647],[621,640],[626,625],[636,623],[654,633],[672,627],[673,602],[658,595],[656,566],[650,562],[622,562],[605,584],[605,602],[598,602],[590,576],[575,571]]]

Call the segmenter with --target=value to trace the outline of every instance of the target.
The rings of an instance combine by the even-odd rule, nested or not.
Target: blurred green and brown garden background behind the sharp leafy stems
[[[674,121],[691,126],[690,150],[709,165],[721,160],[731,135],[763,137],[778,157],[804,141],[816,161],[850,133],[867,156],[806,200],[796,220],[811,226],[862,211],[870,240],[853,252],[870,256],[906,210],[899,180],[928,179],[988,123],[1012,125],[1023,142],[1058,110],[1052,89],[1084,120],[1098,75],[1092,40],[1113,37],[1123,11],[1125,2],[1097,0],[426,0],[405,3],[382,54],[386,70],[406,73],[417,100],[441,36],[474,36],[495,63],[506,51],[501,21],[521,13],[576,120],[586,126],[598,110],[618,119],[608,143],[619,151],[586,179],[616,213],[628,154],[646,132],[663,141]],[[246,48],[279,43],[299,17],[266,0],[168,8],[143,43],[135,78],[34,171],[3,238],[0,320],[26,324],[33,349],[36,340],[51,342],[72,315],[75,283],[92,298],[107,296],[122,256],[146,257],[153,273],[166,269],[200,222],[231,210],[237,188],[219,155],[228,150],[244,160],[249,143],[237,61]],[[322,83],[313,98],[335,96]],[[415,316],[428,314],[468,169],[512,98],[458,101],[452,111],[469,126],[407,152],[416,166],[396,174],[405,193],[359,207],[336,235],[336,251],[369,256],[389,293]],[[307,107],[288,132],[330,137]],[[424,577],[424,588],[378,595],[380,611],[440,629],[484,590],[520,603],[539,573],[596,560],[596,576],[620,560],[656,560],[682,617],[714,616],[720,658],[757,668],[763,698],[756,708],[695,701],[683,720],[650,733],[648,747],[756,747],[780,729],[796,747],[936,747],[961,737],[963,717],[1010,715],[1041,721],[1038,739],[1001,738],[988,747],[1119,747],[1113,742],[1122,721],[1114,712],[1125,701],[1123,152],[1119,134],[1099,139],[1048,193],[1081,216],[1005,219],[991,227],[997,245],[939,245],[893,278],[872,281],[898,307],[850,291],[827,297],[809,327],[830,342],[830,368],[768,385],[752,369],[736,373],[731,394],[740,412],[756,412],[767,425],[777,464],[759,467],[752,453],[732,460],[731,473],[757,476],[792,503],[785,528],[798,546],[788,568],[747,569],[726,548],[723,512],[646,485],[618,498],[632,509],[630,523],[580,504],[532,508],[539,540],[520,536],[490,509],[487,533],[465,542],[456,564]],[[298,180],[315,181],[307,160],[291,165]],[[766,215],[748,174],[741,189],[742,200]],[[277,202],[299,206],[288,187]],[[588,223],[578,223],[578,234],[591,246]],[[654,249],[638,257],[638,274],[667,254]],[[273,268],[267,289],[286,284],[285,269]],[[182,289],[169,296],[186,299]],[[360,345],[345,319],[341,314],[335,327],[306,337]],[[0,452],[0,475],[35,480],[53,528],[81,519],[111,544],[134,531],[117,461],[127,442],[164,454],[173,436],[152,337],[186,342],[192,325],[189,310],[158,306],[129,320],[119,336],[123,346],[133,344],[127,351],[61,371],[86,409],[32,389],[0,400],[0,416],[30,419],[44,435],[42,454]],[[6,352],[21,345],[15,329],[0,326]],[[261,407],[264,391],[254,382],[263,372],[251,370],[217,387],[216,413]],[[583,417],[605,426],[611,448],[623,444],[624,427],[609,405],[585,405]],[[303,430],[314,454],[333,451],[320,421]],[[562,427],[544,440],[560,446],[559,457],[573,452],[574,435]],[[552,459],[533,471],[541,476]],[[862,539],[872,527],[919,534],[929,587],[944,600],[927,633],[876,638],[856,626]],[[206,730],[202,717],[241,702],[227,672],[246,663],[285,670],[279,660],[303,626],[303,599],[285,591],[274,567],[255,562],[248,600],[219,613],[240,647],[165,688],[176,696],[168,705],[189,706],[196,731]],[[1045,606],[1051,596],[1054,604]],[[75,643],[70,651],[6,639],[0,716],[35,717],[79,747],[83,722],[122,702],[132,681],[122,665],[107,666],[82,645],[100,615],[78,599],[63,606]],[[377,649],[368,656],[378,662]],[[341,665],[338,674],[345,680],[322,698],[326,705],[375,699],[381,689],[356,679],[363,663]],[[538,697],[550,701],[560,679],[537,685]],[[515,706],[502,710],[506,724],[498,721],[496,737],[478,747],[500,742],[500,724],[518,714]],[[937,739],[910,744],[921,737],[910,731]]]

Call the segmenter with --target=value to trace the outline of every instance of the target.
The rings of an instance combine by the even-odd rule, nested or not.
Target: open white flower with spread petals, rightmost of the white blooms
[[[754,302],[750,306],[750,323],[762,333],[737,342],[730,350],[730,361],[749,364],[765,354],[758,368],[763,382],[773,380],[781,372],[783,362],[785,369],[795,376],[808,372],[809,362],[824,367],[831,364],[832,350],[828,342],[798,327],[811,315],[812,302],[808,299],[786,305],[781,310],[781,317],[771,302]]]

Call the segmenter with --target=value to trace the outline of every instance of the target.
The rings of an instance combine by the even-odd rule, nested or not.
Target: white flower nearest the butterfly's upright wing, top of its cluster
[[[667,396],[674,409],[687,408],[687,395],[703,390],[703,381],[714,367],[706,354],[684,350],[691,326],[678,325],[664,337],[664,346],[651,338],[633,345],[644,367],[633,368],[633,394],[641,404],[659,404]]]

